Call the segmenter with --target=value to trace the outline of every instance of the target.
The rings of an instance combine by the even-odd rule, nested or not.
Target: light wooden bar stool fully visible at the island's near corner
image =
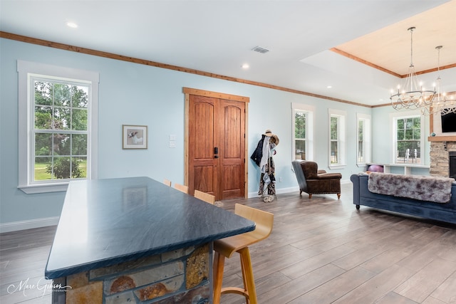
[[[214,241],[214,304],[220,303],[220,298],[224,293],[244,295],[247,304],[257,304],[257,291],[255,290],[249,246],[266,239],[271,234],[274,214],[241,204],[236,204],[234,213],[254,221],[255,230]],[[239,253],[241,258],[244,289],[237,287],[222,288],[224,261],[225,258],[231,258],[234,252]]]

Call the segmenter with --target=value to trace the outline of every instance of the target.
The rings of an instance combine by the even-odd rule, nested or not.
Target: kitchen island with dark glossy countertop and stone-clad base
[[[210,303],[212,242],[254,227],[148,177],[70,182],[45,271],[53,303]]]

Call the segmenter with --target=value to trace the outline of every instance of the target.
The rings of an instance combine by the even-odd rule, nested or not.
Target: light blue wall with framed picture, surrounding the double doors
[[[252,154],[261,133],[271,129],[280,144],[274,157],[278,193],[298,189],[291,171],[291,103],[314,105],[316,157],[321,169],[328,170],[328,108],[347,111],[347,166],[341,170],[343,180],[363,168],[356,166],[356,112],[371,114],[371,109],[234,83],[201,75],[181,73],[147,65],[139,65],[82,53],[36,46],[0,39],[0,224],[31,221],[58,216],[64,192],[24,194],[18,182],[18,82],[16,61],[33,61],[100,73],[98,117],[98,177],[147,176],[161,181],[184,181],[184,112],[182,88],[197,88],[242,95],[250,98],[248,151]],[[380,115],[385,113],[378,110]],[[383,119],[373,121],[377,125]],[[147,150],[122,150],[121,125],[147,125]],[[384,129],[384,127],[377,128]],[[374,134],[381,133],[375,131]],[[169,135],[176,135],[176,147],[170,148]],[[387,147],[382,140],[375,143]],[[374,158],[378,154],[373,147]],[[259,170],[249,159],[249,189],[258,189]]]

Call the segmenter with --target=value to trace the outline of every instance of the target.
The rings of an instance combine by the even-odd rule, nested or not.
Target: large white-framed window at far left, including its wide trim
[[[19,189],[65,191],[98,175],[96,72],[18,61]]]

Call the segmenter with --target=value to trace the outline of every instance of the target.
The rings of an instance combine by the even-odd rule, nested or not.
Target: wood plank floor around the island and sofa
[[[356,211],[351,184],[340,200],[296,192],[221,207],[232,211],[235,203],[274,213],[269,239],[250,248],[261,304],[456,303],[455,225]],[[55,229],[0,234],[0,303],[51,303],[43,273]],[[238,256],[227,259],[224,285],[242,285]],[[222,303],[244,299],[223,295]]]

